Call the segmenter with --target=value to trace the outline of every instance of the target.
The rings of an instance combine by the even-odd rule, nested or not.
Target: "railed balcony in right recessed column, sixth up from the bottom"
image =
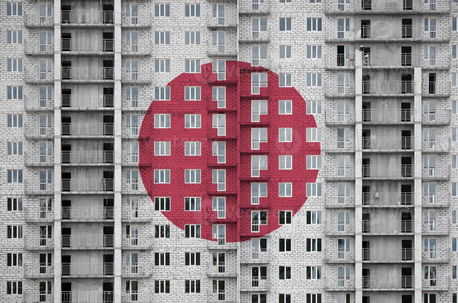
[[[363,151],[414,151],[414,137],[362,137]]]

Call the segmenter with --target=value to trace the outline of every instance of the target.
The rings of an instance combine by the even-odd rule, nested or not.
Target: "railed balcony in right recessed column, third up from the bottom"
[[[405,234],[414,232],[412,220],[363,220],[362,232],[372,235]]]

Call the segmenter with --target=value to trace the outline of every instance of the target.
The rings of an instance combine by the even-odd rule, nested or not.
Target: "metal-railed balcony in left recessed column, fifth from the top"
[[[113,123],[62,123],[61,135],[100,138],[113,135]]]

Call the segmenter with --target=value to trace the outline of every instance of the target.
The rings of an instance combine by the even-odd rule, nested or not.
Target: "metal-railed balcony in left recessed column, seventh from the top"
[[[61,191],[76,194],[104,194],[112,192],[113,185],[113,179],[62,179]]]

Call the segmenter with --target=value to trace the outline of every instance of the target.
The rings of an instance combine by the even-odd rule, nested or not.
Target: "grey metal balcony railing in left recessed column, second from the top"
[[[114,51],[113,39],[65,39],[62,38],[62,52],[106,53]]]

